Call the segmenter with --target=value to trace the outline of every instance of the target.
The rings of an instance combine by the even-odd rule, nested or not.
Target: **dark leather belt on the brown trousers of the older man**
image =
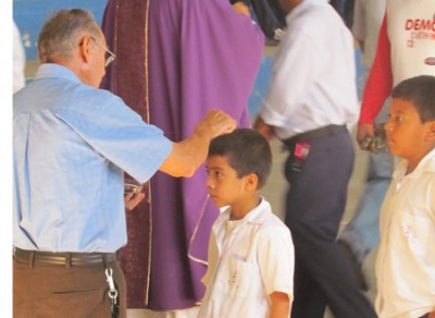
[[[89,266],[119,259],[117,253],[52,253],[14,249],[14,259],[30,265]]]

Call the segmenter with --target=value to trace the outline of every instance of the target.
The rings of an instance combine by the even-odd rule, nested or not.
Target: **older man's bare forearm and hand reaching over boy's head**
[[[233,118],[223,111],[210,110],[187,139],[173,143],[170,156],[159,170],[172,176],[191,176],[206,160],[210,140],[235,127]]]

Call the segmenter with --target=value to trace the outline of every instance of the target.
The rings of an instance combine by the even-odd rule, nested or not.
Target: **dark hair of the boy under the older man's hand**
[[[269,142],[253,130],[237,129],[231,134],[215,137],[210,143],[210,156],[226,157],[238,178],[249,173],[257,174],[258,188],[265,184],[271,173],[271,147]]]

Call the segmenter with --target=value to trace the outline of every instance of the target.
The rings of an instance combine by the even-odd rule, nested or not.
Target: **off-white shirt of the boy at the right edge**
[[[381,318],[435,310],[435,149],[405,175],[401,162],[381,209],[376,311]]]

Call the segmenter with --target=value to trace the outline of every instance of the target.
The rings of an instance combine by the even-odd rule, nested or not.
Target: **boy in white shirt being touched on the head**
[[[294,246],[288,228],[258,194],[272,164],[269,142],[239,129],[210,144],[207,187],[217,207],[199,317],[289,317]]]

